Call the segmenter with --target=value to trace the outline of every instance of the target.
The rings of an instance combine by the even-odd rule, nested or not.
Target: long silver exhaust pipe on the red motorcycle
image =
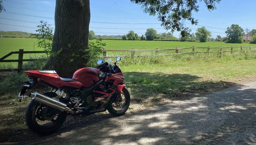
[[[75,114],[74,111],[72,111],[70,108],[67,107],[65,103],[62,103],[58,100],[55,100],[53,98],[49,98],[46,95],[40,94],[38,92],[34,92],[29,94],[29,97],[31,97],[32,100],[35,100],[37,102],[40,102],[44,105],[50,106],[54,109],[58,109],[60,111],[66,111],[69,112],[70,114]]]

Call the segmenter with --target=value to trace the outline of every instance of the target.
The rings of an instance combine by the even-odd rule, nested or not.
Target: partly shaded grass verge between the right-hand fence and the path
[[[157,64],[121,64],[121,69],[135,102],[151,104],[255,81],[256,55],[252,54],[250,60],[246,55],[161,57]]]

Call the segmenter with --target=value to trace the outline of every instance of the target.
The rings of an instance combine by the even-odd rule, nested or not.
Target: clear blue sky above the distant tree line
[[[238,24],[244,30],[256,29],[256,0],[222,0],[217,9],[207,10],[203,2],[198,2],[199,11],[193,13],[198,25],[184,21],[186,27],[195,33],[197,28],[205,26],[212,37],[226,36],[227,27]],[[54,28],[55,0],[3,0],[6,11],[0,13],[0,31],[25,31],[35,33],[40,20]],[[96,35],[124,35],[133,30],[139,36],[147,28],[157,33],[167,33],[156,16],[145,14],[140,5],[130,0],[90,0],[90,30]],[[179,37],[180,32],[174,32]]]

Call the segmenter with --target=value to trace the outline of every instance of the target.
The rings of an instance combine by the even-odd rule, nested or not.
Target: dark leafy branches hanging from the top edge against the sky
[[[192,25],[197,24],[197,20],[192,17],[192,13],[199,11],[198,1],[202,0],[131,0],[142,6],[145,13],[156,15],[162,22],[166,30],[188,31],[184,25],[184,20],[189,20]],[[215,4],[221,0],[203,0],[208,10],[216,9]],[[184,36],[183,36],[184,37]]]

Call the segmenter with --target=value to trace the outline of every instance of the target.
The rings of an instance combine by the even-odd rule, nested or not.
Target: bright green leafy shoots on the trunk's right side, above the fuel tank
[[[84,50],[88,52],[88,55],[83,56],[88,58],[87,66],[94,67],[100,56],[102,56],[103,46],[106,46],[101,39],[96,40],[96,42],[89,42],[88,49]]]

